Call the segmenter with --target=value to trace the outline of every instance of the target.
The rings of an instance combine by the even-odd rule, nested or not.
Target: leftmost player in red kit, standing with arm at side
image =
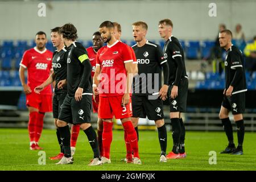
[[[19,77],[26,94],[29,111],[28,133],[30,150],[42,150],[38,145],[43,130],[44,113],[52,111],[52,89],[47,86],[40,94],[34,88],[49,77],[52,70],[52,52],[46,49],[46,33],[39,31],[35,38],[36,47],[24,52],[20,61]],[[25,71],[27,69],[27,84]]]

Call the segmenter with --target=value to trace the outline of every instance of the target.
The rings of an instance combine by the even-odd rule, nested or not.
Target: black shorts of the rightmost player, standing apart
[[[245,112],[245,92],[234,94],[231,97],[224,96],[221,105],[232,111],[232,114],[243,114]]]

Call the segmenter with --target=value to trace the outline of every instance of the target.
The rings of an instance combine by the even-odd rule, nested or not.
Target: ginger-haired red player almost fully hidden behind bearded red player
[[[115,39],[121,41],[121,35],[122,35],[121,24],[119,24],[117,22],[113,22],[113,24],[114,24]],[[134,72],[137,73],[138,72],[138,62],[137,62],[137,59],[136,59],[133,48],[131,48],[130,46],[129,46],[129,48],[131,49],[131,52],[133,53],[133,70],[134,70]],[[138,138],[138,141],[139,141],[138,127],[134,127],[134,129],[137,133],[137,138]],[[125,132],[124,137],[125,137],[125,146],[126,146],[126,158],[122,159],[122,160],[125,161],[126,163],[132,163],[133,162],[133,155],[132,155],[133,150],[131,148],[129,140],[127,139],[127,133],[126,132]]]

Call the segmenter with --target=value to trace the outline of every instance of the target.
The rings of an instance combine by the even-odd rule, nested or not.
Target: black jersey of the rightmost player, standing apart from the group
[[[226,79],[226,89],[232,85],[233,92],[232,94],[246,92],[246,77],[245,69],[243,68],[243,56],[240,49],[236,46],[231,46],[228,51],[226,51],[226,60],[225,60],[225,79]],[[238,70],[239,69],[239,70]],[[241,72],[239,77],[235,77],[237,71]],[[238,79],[238,80],[234,80]],[[236,81],[236,85],[232,83]]]

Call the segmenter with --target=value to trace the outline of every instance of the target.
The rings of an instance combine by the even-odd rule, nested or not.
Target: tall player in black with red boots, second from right
[[[159,21],[158,31],[166,43],[164,44],[164,56],[170,68],[169,91],[170,118],[172,124],[172,139],[174,146],[167,155],[167,159],[185,158],[185,126],[181,113],[185,113],[188,95],[188,77],[185,68],[183,48],[177,38],[172,35],[173,24],[170,19]],[[169,93],[170,93],[169,92]]]

